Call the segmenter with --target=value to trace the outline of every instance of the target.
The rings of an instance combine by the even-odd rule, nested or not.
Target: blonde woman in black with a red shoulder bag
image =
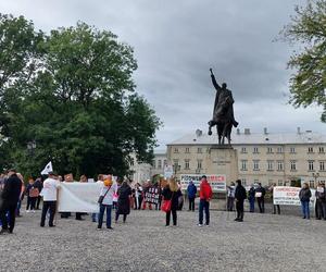
[[[181,196],[181,190],[178,187],[175,178],[170,178],[168,184],[162,191],[162,196],[164,200],[171,200],[171,209],[166,211],[165,215],[165,226],[170,226],[171,213],[173,225],[177,225],[177,210],[179,206],[179,197]]]

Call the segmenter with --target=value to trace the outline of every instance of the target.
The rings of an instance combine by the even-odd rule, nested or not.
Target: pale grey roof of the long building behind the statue
[[[227,141],[227,139],[226,139]],[[167,146],[173,145],[216,145],[217,135],[208,134],[188,134],[176,139]],[[231,145],[306,145],[306,144],[326,144],[326,135],[313,133],[311,131],[298,133],[238,133],[231,134]]]

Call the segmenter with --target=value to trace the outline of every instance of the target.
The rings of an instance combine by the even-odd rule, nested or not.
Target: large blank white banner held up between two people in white
[[[60,212],[99,212],[100,183],[61,183],[59,189]]]

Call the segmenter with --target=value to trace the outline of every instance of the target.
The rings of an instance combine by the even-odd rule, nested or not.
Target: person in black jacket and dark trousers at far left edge
[[[0,207],[0,219],[2,222],[2,230],[0,234],[12,233],[15,226],[15,211],[17,208],[17,202],[20,200],[22,190],[22,181],[18,178],[15,170],[10,170],[9,178],[4,183],[4,187],[1,194],[1,207]],[[7,212],[9,212],[9,228]]]

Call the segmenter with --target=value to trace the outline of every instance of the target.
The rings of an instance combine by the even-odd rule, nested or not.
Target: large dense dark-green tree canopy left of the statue
[[[0,35],[0,166],[125,175],[131,152],[152,160],[161,122],[135,90],[130,46],[82,22],[47,35],[11,15]]]

